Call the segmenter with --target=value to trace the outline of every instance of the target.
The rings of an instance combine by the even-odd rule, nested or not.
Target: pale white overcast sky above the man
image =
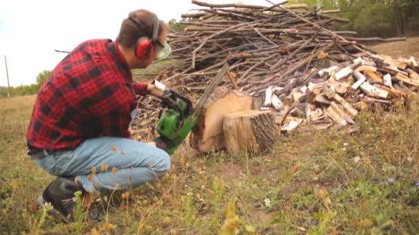
[[[203,0],[237,3],[237,0]],[[241,3],[269,5],[265,0]],[[276,2],[276,1],[275,1]],[[0,86],[30,85],[43,70],[52,70],[71,51],[93,38],[114,40],[121,22],[132,10],[147,9],[163,21],[180,20],[181,14],[199,8],[191,0],[13,0],[0,1]]]

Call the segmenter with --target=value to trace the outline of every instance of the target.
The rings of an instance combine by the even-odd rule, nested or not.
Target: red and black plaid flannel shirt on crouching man
[[[129,137],[136,95],[146,93],[147,83],[132,81],[115,42],[85,41],[61,60],[39,89],[28,146],[73,149],[89,138]]]

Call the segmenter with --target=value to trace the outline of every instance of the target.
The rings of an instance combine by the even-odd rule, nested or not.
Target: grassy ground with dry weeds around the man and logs
[[[25,155],[34,100],[0,100],[0,234],[218,234],[227,205],[241,234],[419,232],[417,98],[407,109],[362,112],[358,133],[281,135],[266,155],[197,155],[181,146],[163,179],[104,196],[101,221],[72,225],[34,204],[54,179]]]

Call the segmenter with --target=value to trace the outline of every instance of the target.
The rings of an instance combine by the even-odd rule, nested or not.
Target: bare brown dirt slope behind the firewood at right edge
[[[399,56],[419,58],[419,36],[407,38],[407,41],[382,43],[369,47],[379,54],[398,58]]]

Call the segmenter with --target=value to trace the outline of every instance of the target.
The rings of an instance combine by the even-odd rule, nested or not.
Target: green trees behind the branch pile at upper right
[[[336,30],[354,30],[358,36],[402,36],[419,33],[418,0],[291,0],[323,10],[340,9],[334,15],[350,23],[335,23]]]

